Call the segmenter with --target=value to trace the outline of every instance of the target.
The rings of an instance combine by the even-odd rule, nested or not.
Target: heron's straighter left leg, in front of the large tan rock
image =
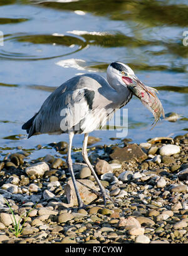
[[[78,200],[78,207],[81,208],[84,205],[83,205],[83,201],[81,200],[80,193],[78,192],[78,188],[76,186],[75,174],[73,172],[73,161],[71,159],[71,147],[72,147],[74,132],[69,132],[68,136],[69,136],[69,144],[68,144],[68,154],[67,154],[66,161],[67,161],[67,164],[68,164],[68,169],[69,169],[70,174],[71,174],[73,185],[75,187],[75,192],[76,192],[76,196],[77,196],[77,200]]]

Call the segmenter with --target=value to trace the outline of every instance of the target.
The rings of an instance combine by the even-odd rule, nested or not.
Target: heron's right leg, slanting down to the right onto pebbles
[[[82,147],[81,154],[83,156],[83,160],[85,161],[85,163],[90,168],[91,173],[93,174],[93,176],[95,177],[95,180],[98,183],[98,186],[99,186],[100,191],[101,191],[102,196],[103,196],[104,205],[106,205],[106,192],[105,192],[105,189],[103,188],[102,184],[100,183],[100,180],[98,179],[97,174],[95,173],[93,167],[91,166],[90,160],[88,159],[88,153],[86,151],[87,144],[88,144],[88,133],[85,134],[85,137],[84,137],[84,140],[83,140],[83,147]]]

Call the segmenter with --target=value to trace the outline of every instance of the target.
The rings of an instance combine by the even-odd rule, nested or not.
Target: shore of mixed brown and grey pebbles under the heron
[[[26,151],[4,157],[0,243],[188,243],[188,134],[140,145],[131,139],[93,145],[90,161],[108,200],[103,206],[95,179],[76,152],[73,168],[88,205],[80,210],[64,158],[46,155],[30,161]],[[67,150],[66,142],[53,146]],[[6,200],[17,220],[26,220],[19,237],[10,230]]]

